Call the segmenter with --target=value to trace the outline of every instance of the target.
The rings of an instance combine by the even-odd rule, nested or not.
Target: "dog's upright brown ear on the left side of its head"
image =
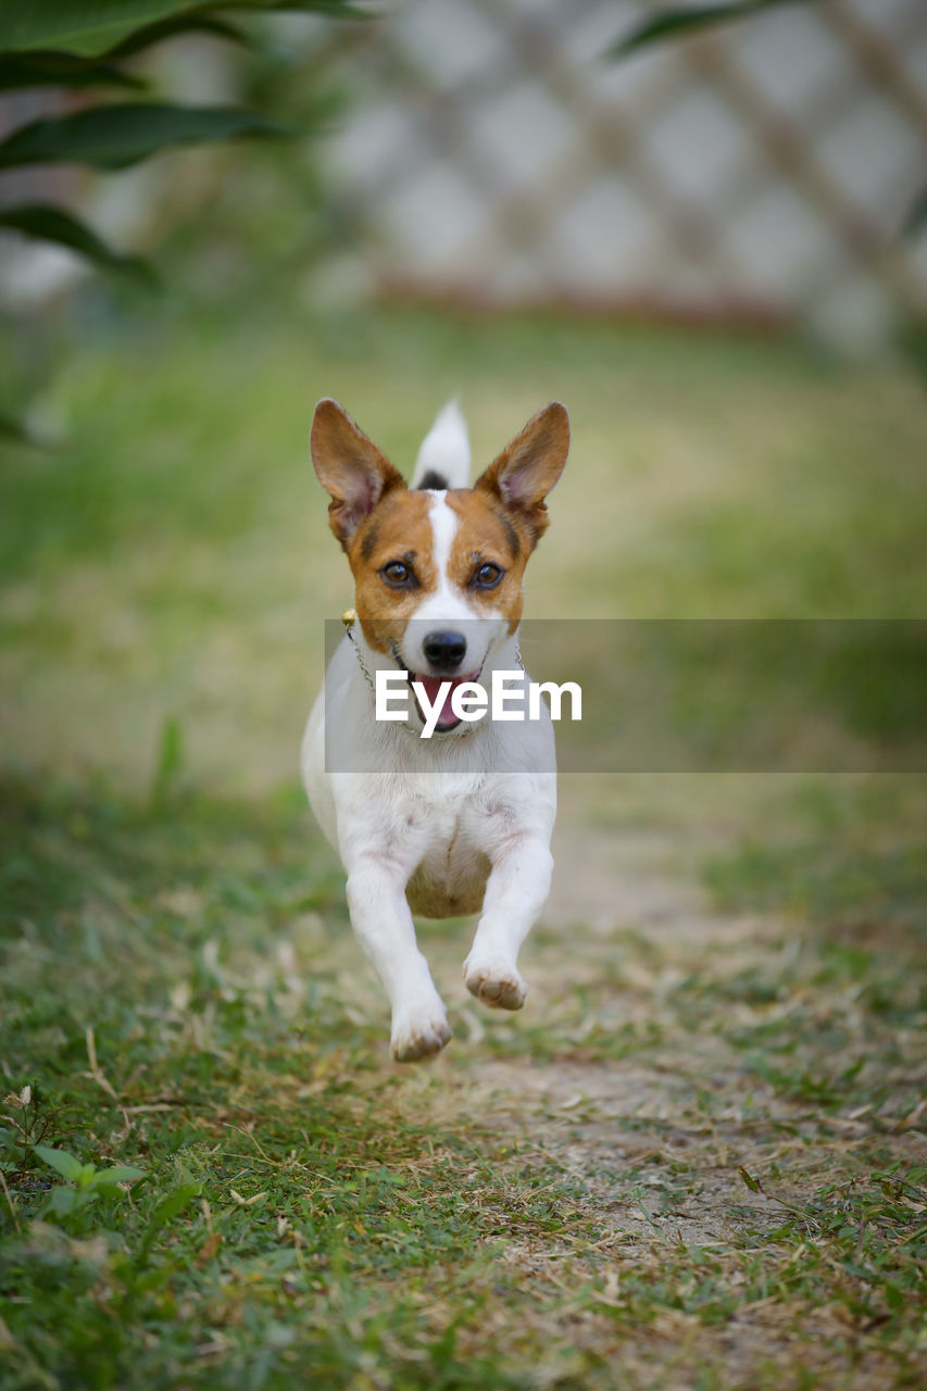
[[[405,479],[330,396],[316,406],[309,451],[316,477],[331,497],[328,526],[347,548],[377,502],[393,488],[404,488]]]

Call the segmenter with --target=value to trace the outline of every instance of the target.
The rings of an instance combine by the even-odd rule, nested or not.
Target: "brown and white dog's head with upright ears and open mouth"
[[[384,665],[426,689],[479,679],[518,627],[525,565],[547,529],[544,499],[568,448],[566,408],[553,402],[472,488],[409,488],[335,401],[319,402],[312,462],[331,497],[363,638]]]

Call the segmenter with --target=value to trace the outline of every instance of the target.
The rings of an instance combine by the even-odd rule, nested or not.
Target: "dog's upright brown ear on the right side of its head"
[[[532,416],[473,487],[490,492],[508,512],[523,517],[537,541],[548,520],[544,498],[564,472],[568,449],[566,406],[551,401]]]

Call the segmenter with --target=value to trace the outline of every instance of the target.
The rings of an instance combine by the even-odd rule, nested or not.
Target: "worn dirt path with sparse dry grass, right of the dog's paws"
[[[622,1384],[912,1384],[874,1333],[884,1314],[841,1274],[848,1252],[827,1248],[827,1203],[855,1210],[867,1168],[923,1157],[910,1103],[923,1054],[880,1061],[888,1035],[866,1028],[830,1056],[853,1000],[816,979],[796,924],[715,912],[679,872],[689,850],[678,835],[578,833],[562,818],[523,1015],[458,996],[451,1049],[404,1077],[399,1103],[427,1099],[458,1124],[479,1114],[523,1164],[572,1185],[576,1224],[594,1220],[597,1241],[509,1223],[505,1260],[562,1291],[557,1338],[600,1353]],[[437,936],[426,951],[447,990],[452,951]],[[881,1070],[878,1103],[816,1096],[816,1078],[857,1063],[863,1078]],[[777,1228],[786,1235],[767,1245]],[[615,1337],[622,1319],[633,1337]]]

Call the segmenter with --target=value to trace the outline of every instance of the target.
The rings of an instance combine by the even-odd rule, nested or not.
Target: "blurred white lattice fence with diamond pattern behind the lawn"
[[[345,35],[342,273],[843,337],[923,314],[927,242],[899,231],[927,185],[926,0],[785,6],[608,57],[646,13],[399,0]]]

